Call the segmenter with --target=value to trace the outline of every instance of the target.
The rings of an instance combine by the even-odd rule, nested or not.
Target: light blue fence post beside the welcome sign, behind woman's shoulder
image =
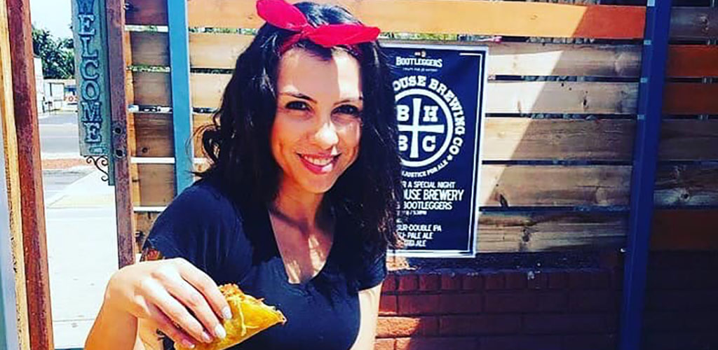
[[[192,184],[192,101],[190,100],[190,37],[187,1],[167,0],[169,65],[172,80],[174,179],[177,194]],[[185,144],[189,148],[185,148]]]

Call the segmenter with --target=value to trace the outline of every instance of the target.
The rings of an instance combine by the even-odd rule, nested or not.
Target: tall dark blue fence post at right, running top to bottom
[[[671,0],[648,0],[638,92],[638,120],[633,146],[628,250],[621,310],[621,350],[640,349],[670,24]]]

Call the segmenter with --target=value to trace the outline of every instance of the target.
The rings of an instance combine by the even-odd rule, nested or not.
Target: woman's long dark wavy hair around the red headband
[[[296,5],[310,24],[359,23],[339,6],[303,2]],[[218,179],[233,198],[269,203],[275,199],[280,169],[271,154],[269,135],[276,112],[277,67],[281,44],[293,32],[264,24],[237,59],[213,124],[200,129],[210,168],[197,173]],[[358,159],[327,193],[360,228],[368,252],[380,255],[397,247],[396,220],[403,198],[401,160],[391,74],[378,42],[350,47],[321,47],[307,39],[302,47],[325,60],[345,50],[360,62],[363,87],[362,136]]]

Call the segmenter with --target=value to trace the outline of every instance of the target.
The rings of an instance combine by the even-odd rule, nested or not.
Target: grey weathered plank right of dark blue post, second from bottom
[[[661,166],[656,174],[656,205],[718,205],[718,166]]]

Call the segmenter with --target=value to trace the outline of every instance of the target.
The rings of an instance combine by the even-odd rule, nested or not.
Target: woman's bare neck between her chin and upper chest
[[[276,199],[270,210],[283,221],[292,224],[302,232],[319,227],[322,218],[324,194],[304,191],[297,184],[280,181]]]

